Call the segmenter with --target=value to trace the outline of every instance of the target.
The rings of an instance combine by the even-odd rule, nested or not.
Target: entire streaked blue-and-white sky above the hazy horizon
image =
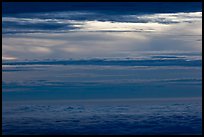
[[[202,96],[201,3],[3,3],[4,100]]]

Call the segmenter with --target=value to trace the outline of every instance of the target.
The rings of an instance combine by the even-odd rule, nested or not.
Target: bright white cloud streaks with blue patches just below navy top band
[[[102,13],[57,12],[23,14],[20,17],[5,16],[3,32],[50,31],[154,31],[167,24],[202,21],[202,12],[156,13],[143,15],[106,15]],[[166,25],[165,25],[166,24]],[[14,29],[14,30],[15,30]],[[18,30],[18,31],[17,31]],[[35,30],[35,31],[34,31]],[[29,32],[29,31],[28,31]]]

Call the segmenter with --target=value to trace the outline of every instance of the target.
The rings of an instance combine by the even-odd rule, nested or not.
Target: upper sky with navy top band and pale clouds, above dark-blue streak
[[[178,54],[198,59],[201,5],[3,2],[2,59],[142,59]]]

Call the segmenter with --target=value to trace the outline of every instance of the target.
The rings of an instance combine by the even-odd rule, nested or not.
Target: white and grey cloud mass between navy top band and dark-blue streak
[[[202,41],[198,41],[202,38],[201,12],[117,15],[121,21],[114,21],[114,14],[47,14],[4,16],[3,56],[19,60],[138,58],[142,52],[202,52]],[[90,16],[89,20],[84,16]],[[134,18],[135,22],[128,22]]]

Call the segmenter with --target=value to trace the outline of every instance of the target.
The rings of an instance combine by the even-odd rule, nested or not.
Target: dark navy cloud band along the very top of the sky
[[[125,13],[169,13],[201,11],[201,2],[3,2],[3,14],[91,10]],[[128,10],[127,10],[128,8]]]

